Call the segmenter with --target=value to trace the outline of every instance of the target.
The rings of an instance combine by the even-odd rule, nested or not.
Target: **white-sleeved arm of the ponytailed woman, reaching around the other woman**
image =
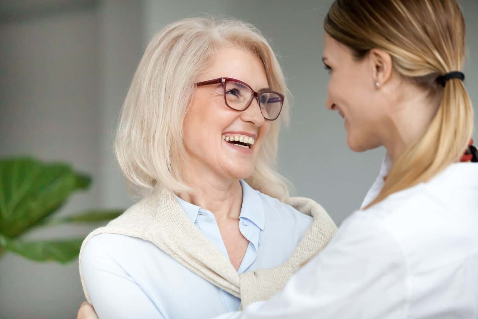
[[[367,213],[345,221],[326,248],[271,299],[218,318],[405,318],[402,249]]]

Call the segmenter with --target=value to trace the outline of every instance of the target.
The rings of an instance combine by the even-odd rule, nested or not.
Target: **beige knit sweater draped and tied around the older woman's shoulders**
[[[326,211],[308,198],[291,197],[285,201],[298,211],[314,217],[310,228],[289,260],[281,266],[238,274],[224,256],[187,218],[173,192],[157,188],[131,206],[105,227],[94,230],[84,240],[102,233],[123,234],[147,240],[193,273],[241,299],[241,307],[265,300],[284,287],[299,267],[323,248],[337,227]],[[91,303],[81,273],[87,301]]]

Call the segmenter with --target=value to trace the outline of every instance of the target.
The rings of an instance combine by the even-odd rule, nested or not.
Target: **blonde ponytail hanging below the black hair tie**
[[[377,198],[366,208],[390,194],[430,180],[458,161],[473,132],[473,108],[463,82],[445,84],[443,99],[422,138],[410,146],[392,166]]]

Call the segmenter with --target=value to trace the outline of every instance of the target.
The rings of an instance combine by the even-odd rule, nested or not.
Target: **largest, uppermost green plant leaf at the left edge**
[[[13,238],[60,208],[91,179],[65,163],[32,158],[0,160],[0,234]]]

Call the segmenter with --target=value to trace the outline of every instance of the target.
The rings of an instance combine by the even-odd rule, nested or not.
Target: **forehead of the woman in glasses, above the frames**
[[[232,77],[249,84],[253,89],[267,87],[264,64],[254,53],[239,48],[220,48],[212,58],[209,69],[200,81],[218,77]]]

